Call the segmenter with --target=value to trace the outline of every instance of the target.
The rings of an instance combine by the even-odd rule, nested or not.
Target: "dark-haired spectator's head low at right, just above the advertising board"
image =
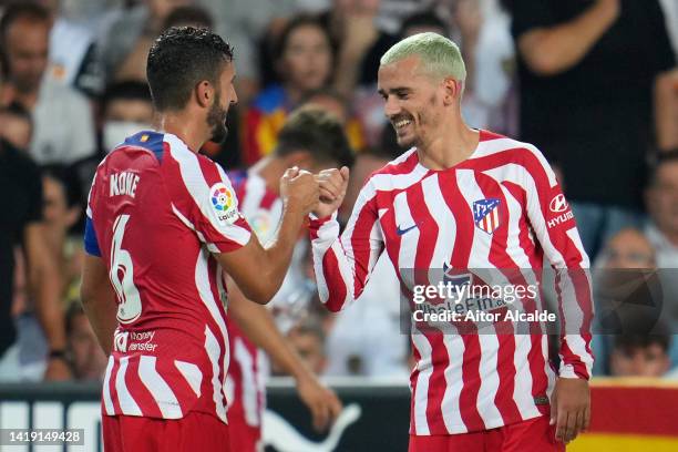
[[[671,367],[668,335],[619,335],[609,356],[614,377],[664,377]]]

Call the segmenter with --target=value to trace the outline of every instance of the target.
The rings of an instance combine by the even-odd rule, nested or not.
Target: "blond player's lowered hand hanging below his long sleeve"
[[[556,424],[556,440],[565,444],[588,430],[590,392],[588,381],[558,378],[551,397],[551,425]]]

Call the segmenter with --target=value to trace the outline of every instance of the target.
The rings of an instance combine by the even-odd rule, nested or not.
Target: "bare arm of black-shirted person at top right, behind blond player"
[[[577,64],[619,17],[619,0],[597,0],[574,20],[537,28],[517,39],[517,49],[540,75],[553,75]]]

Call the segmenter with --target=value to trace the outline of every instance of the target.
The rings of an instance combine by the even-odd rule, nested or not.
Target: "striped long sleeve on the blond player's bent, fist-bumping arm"
[[[360,192],[341,237],[335,217],[311,219],[310,236],[318,292],[320,301],[330,311],[346,308],[362,294],[383,251],[378,219],[376,191],[369,182]]]

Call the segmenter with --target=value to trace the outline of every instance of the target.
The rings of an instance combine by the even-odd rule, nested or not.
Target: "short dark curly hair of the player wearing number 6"
[[[230,61],[233,48],[218,34],[193,27],[167,29],[153,43],[146,65],[155,109],[183,109],[192,90],[204,80],[217,84]]]

